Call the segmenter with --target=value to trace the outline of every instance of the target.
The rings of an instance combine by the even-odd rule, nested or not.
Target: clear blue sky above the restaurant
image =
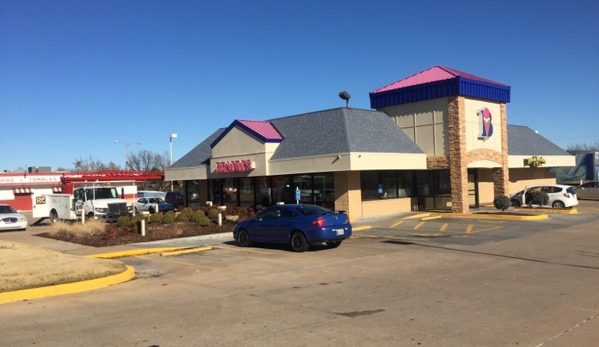
[[[0,170],[124,166],[125,141],[168,155],[170,133],[176,161],[235,119],[342,107],[342,90],[369,109],[435,65],[510,85],[509,124],[594,143],[597,18],[596,0],[0,0]]]

